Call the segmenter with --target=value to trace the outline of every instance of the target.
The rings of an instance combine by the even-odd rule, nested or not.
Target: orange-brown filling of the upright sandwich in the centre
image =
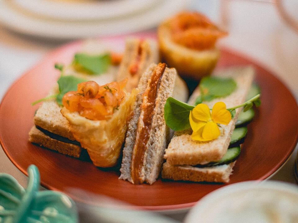
[[[154,107],[161,77],[165,71],[166,64],[159,63],[148,81],[147,90],[143,94],[141,114],[138,119],[136,140],[133,147],[131,162],[131,177],[134,184],[141,183],[140,172],[143,166],[147,142],[150,138],[151,123]]]

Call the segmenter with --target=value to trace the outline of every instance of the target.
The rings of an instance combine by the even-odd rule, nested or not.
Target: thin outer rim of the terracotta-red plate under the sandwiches
[[[99,38],[96,38],[96,40],[107,40],[107,39],[110,39],[110,38],[115,38],[115,39],[118,39],[118,38],[124,38],[124,37],[127,37],[127,36],[137,36],[137,37],[140,37],[140,36],[146,36],[146,35],[149,35],[149,37],[156,37],[156,34],[155,32],[140,32],[140,33],[131,33],[129,35],[116,35],[116,36],[111,36],[111,37],[99,37]],[[3,95],[2,97],[2,100],[1,100],[1,103],[0,103],[0,111],[2,109],[2,104],[3,104],[3,101],[5,100],[5,98],[7,97],[7,95],[9,95],[10,91],[12,90],[13,86],[16,85],[18,82],[22,81],[23,78],[26,78],[27,75],[30,74],[30,72],[39,67],[40,65],[42,65],[44,63],[44,60],[48,57],[50,57],[51,55],[53,54],[56,54],[60,51],[64,51],[65,49],[71,47],[71,46],[76,46],[76,45],[80,45],[82,42],[84,42],[84,40],[77,40],[77,41],[73,41],[73,42],[70,42],[70,43],[67,43],[65,45],[62,45],[52,51],[50,51],[49,53],[47,53],[45,56],[43,56],[39,61],[38,63],[36,63],[34,66],[32,66],[31,68],[29,68],[26,72],[24,72],[19,78],[16,79],[16,81],[14,81],[7,89],[7,91],[5,92],[5,94]],[[221,51],[225,51],[225,52],[228,52],[230,54],[233,54],[233,55],[236,55],[238,57],[241,57],[247,61],[249,61],[251,64],[253,64],[255,67],[258,67],[266,72],[268,72],[270,74],[271,77],[275,78],[279,84],[283,85],[285,87],[285,89],[289,92],[289,94],[291,95],[291,97],[295,100],[296,102],[296,106],[295,109],[296,110],[296,114],[298,116],[298,105],[297,105],[297,100],[296,98],[293,96],[293,93],[291,92],[291,90],[288,88],[288,86],[282,81],[280,80],[275,72],[272,72],[271,69],[269,69],[267,66],[265,66],[264,64],[256,61],[255,59],[251,58],[250,56],[248,55],[245,55],[244,53],[242,52],[238,52],[234,49],[230,49],[228,47],[225,47],[225,46],[220,46],[219,49]],[[282,168],[282,166],[287,162],[287,160],[291,157],[291,154],[293,154],[293,151],[295,150],[295,147],[297,145],[297,142],[298,142],[298,132],[296,133],[296,138],[295,138],[295,142],[292,142],[291,143],[291,151],[287,152],[286,156],[285,156],[285,159],[281,160],[278,165],[276,165],[273,169],[271,169],[268,173],[266,173],[264,176],[260,177],[259,179],[257,179],[256,181],[263,181],[263,180],[266,180],[268,179],[270,176],[272,176],[274,173],[276,173],[280,168]],[[11,155],[8,153],[8,151],[6,150],[5,146],[4,146],[4,143],[2,141],[2,138],[0,137],[0,145],[2,146],[2,149],[3,151],[5,152],[5,154],[7,155],[7,157],[9,158],[9,160],[22,172],[24,173],[26,176],[28,176],[28,173],[25,169],[21,168],[20,165],[12,159]],[[56,191],[61,191],[61,190],[58,190],[50,185],[48,185],[47,183],[44,183],[41,181],[41,185],[44,186],[45,188],[47,189],[50,189],[50,190],[56,190]],[[65,194],[67,194],[67,192],[65,191],[61,191]],[[72,198],[75,198],[73,195],[71,196]],[[78,198],[76,198],[75,200],[80,200]],[[86,203],[86,201],[84,201],[84,203]],[[88,203],[88,202],[87,202]],[[145,209],[145,210],[151,210],[151,211],[156,211],[156,212],[168,212],[168,211],[179,211],[179,210],[187,210],[191,207],[193,207],[195,204],[197,203],[196,202],[190,202],[190,203],[183,203],[183,204],[174,204],[174,205],[159,205],[159,206],[138,206],[138,205],[133,205],[133,204],[129,204],[128,203],[128,206],[131,207],[131,208],[140,208],[140,209]]]

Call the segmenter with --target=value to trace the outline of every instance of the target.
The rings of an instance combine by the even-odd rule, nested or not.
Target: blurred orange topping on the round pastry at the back
[[[169,24],[172,40],[194,50],[211,49],[218,38],[228,35],[198,12],[182,12],[172,18]]]

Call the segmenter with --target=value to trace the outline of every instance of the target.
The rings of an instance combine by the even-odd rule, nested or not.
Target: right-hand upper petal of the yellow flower
[[[228,125],[232,119],[231,113],[227,110],[226,104],[223,102],[214,104],[211,117],[215,123],[223,125]]]

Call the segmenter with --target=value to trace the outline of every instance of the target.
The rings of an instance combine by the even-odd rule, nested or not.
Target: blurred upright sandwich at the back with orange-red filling
[[[125,42],[125,50],[116,81],[128,78],[125,89],[127,92],[131,92],[138,86],[143,72],[149,65],[158,62],[158,48],[154,40],[128,38]]]

